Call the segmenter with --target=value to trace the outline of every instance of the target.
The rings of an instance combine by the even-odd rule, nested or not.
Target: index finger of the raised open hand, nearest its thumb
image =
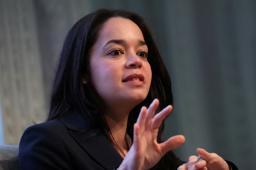
[[[161,123],[163,122],[163,120],[166,118],[167,115],[169,115],[171,113],[171,111],[172,111],[172,106],[169,105],[169,106],[165,107],[161,112],[156,114],[153,117],[151,128],[158,129],[160,127]]]

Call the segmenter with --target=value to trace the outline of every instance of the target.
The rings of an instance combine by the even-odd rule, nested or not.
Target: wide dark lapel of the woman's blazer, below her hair
[[[98,164],[105,169],[114,169],[123,158],[97,128],[92,128],[79,114],[60,118],[68,133]]]

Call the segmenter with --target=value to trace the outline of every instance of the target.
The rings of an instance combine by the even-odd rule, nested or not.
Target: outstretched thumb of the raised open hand
[[[160,144],[163,155],[170,150],[178,148],[184,142],[185,142],[185,137],[183,135],[176,135],[176,136],[170,137],[167,141]]]

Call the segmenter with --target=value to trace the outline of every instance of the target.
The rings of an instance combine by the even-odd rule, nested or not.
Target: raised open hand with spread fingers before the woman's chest
[[[155,99],[148,107],[143,106],[137,122],[134,124],[133,144],[118,169],[150,169],[172,149],[185,142],[185,137],[177,135],[158,144],[157,133],[164,118],[172,111],[172,106],[165,107],[155,115],[159,100]],[[155,116],[154,116],[155,115]]]

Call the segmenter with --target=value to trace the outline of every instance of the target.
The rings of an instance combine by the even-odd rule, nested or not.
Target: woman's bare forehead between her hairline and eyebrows
[[[143,34],[132,20],[114,17],[105,22],[99,31],[98,40],[109,41],[111,39],[142,40]]]

